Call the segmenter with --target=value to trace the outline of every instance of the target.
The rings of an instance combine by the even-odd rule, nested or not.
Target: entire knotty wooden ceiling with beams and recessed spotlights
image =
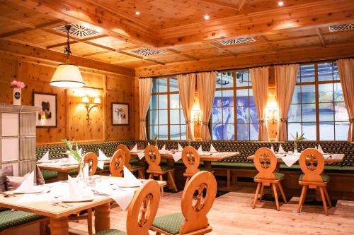
[[[111,66],[149,68],[291,52],[354,47],[353,0],[0,0],[0,41],[62,52],[73,23],[95,30],[71,36],[74,56]],[[136,12],[139,11],[139,16]],[[210,20],[204,20],[204,16]],[[254,42],[224,45],[252,37]],[[146,56],[139,49],[160,50]],[[208,62],[210,63],[210,62]]]

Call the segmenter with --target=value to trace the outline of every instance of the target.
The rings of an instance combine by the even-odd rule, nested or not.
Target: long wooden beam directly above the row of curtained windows
[[[176,73],[192,73],[195,71],[210,71],[223,68],[248,68],[268,64],[286,64],[322,59],[346,58],[353,56],[354,44],[334,44],[326,47],[298,47],[285,49],[279,52],[258,52],[258,54],[240,54],[239,59],[225,56],[217,59],[201,59],[200,61],[166,64],[165,66],[145,66],[135,69],[137,77],[164,76]]]

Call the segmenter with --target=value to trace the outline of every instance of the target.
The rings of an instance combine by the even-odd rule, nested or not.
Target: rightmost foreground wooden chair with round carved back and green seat
[[[195,191],[197,200],[193,203]],[[174,213],[157,217],[150,229],[160,234],[207,234],[212,231],[208,223],[207,213],[214,203],[217,193],[215,176],[208,171],[199,171],[192,176],[184,188],[181,200],[182,213]]]

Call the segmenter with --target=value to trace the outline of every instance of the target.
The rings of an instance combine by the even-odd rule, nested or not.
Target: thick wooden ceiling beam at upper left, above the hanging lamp
[[[156,36],[147,30],[136,30],[127,20],[101,6],[85,0],[5,0],[47,14],[70,23],[89,23],[105,31],[105,34],[134,44],[157,45]]]

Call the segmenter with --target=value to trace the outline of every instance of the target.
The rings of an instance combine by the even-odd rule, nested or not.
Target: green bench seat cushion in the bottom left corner
[[[0,231],[43,218],[45,217],[42,215],[35,215],[21,210],[4,210],[0,212]]]

